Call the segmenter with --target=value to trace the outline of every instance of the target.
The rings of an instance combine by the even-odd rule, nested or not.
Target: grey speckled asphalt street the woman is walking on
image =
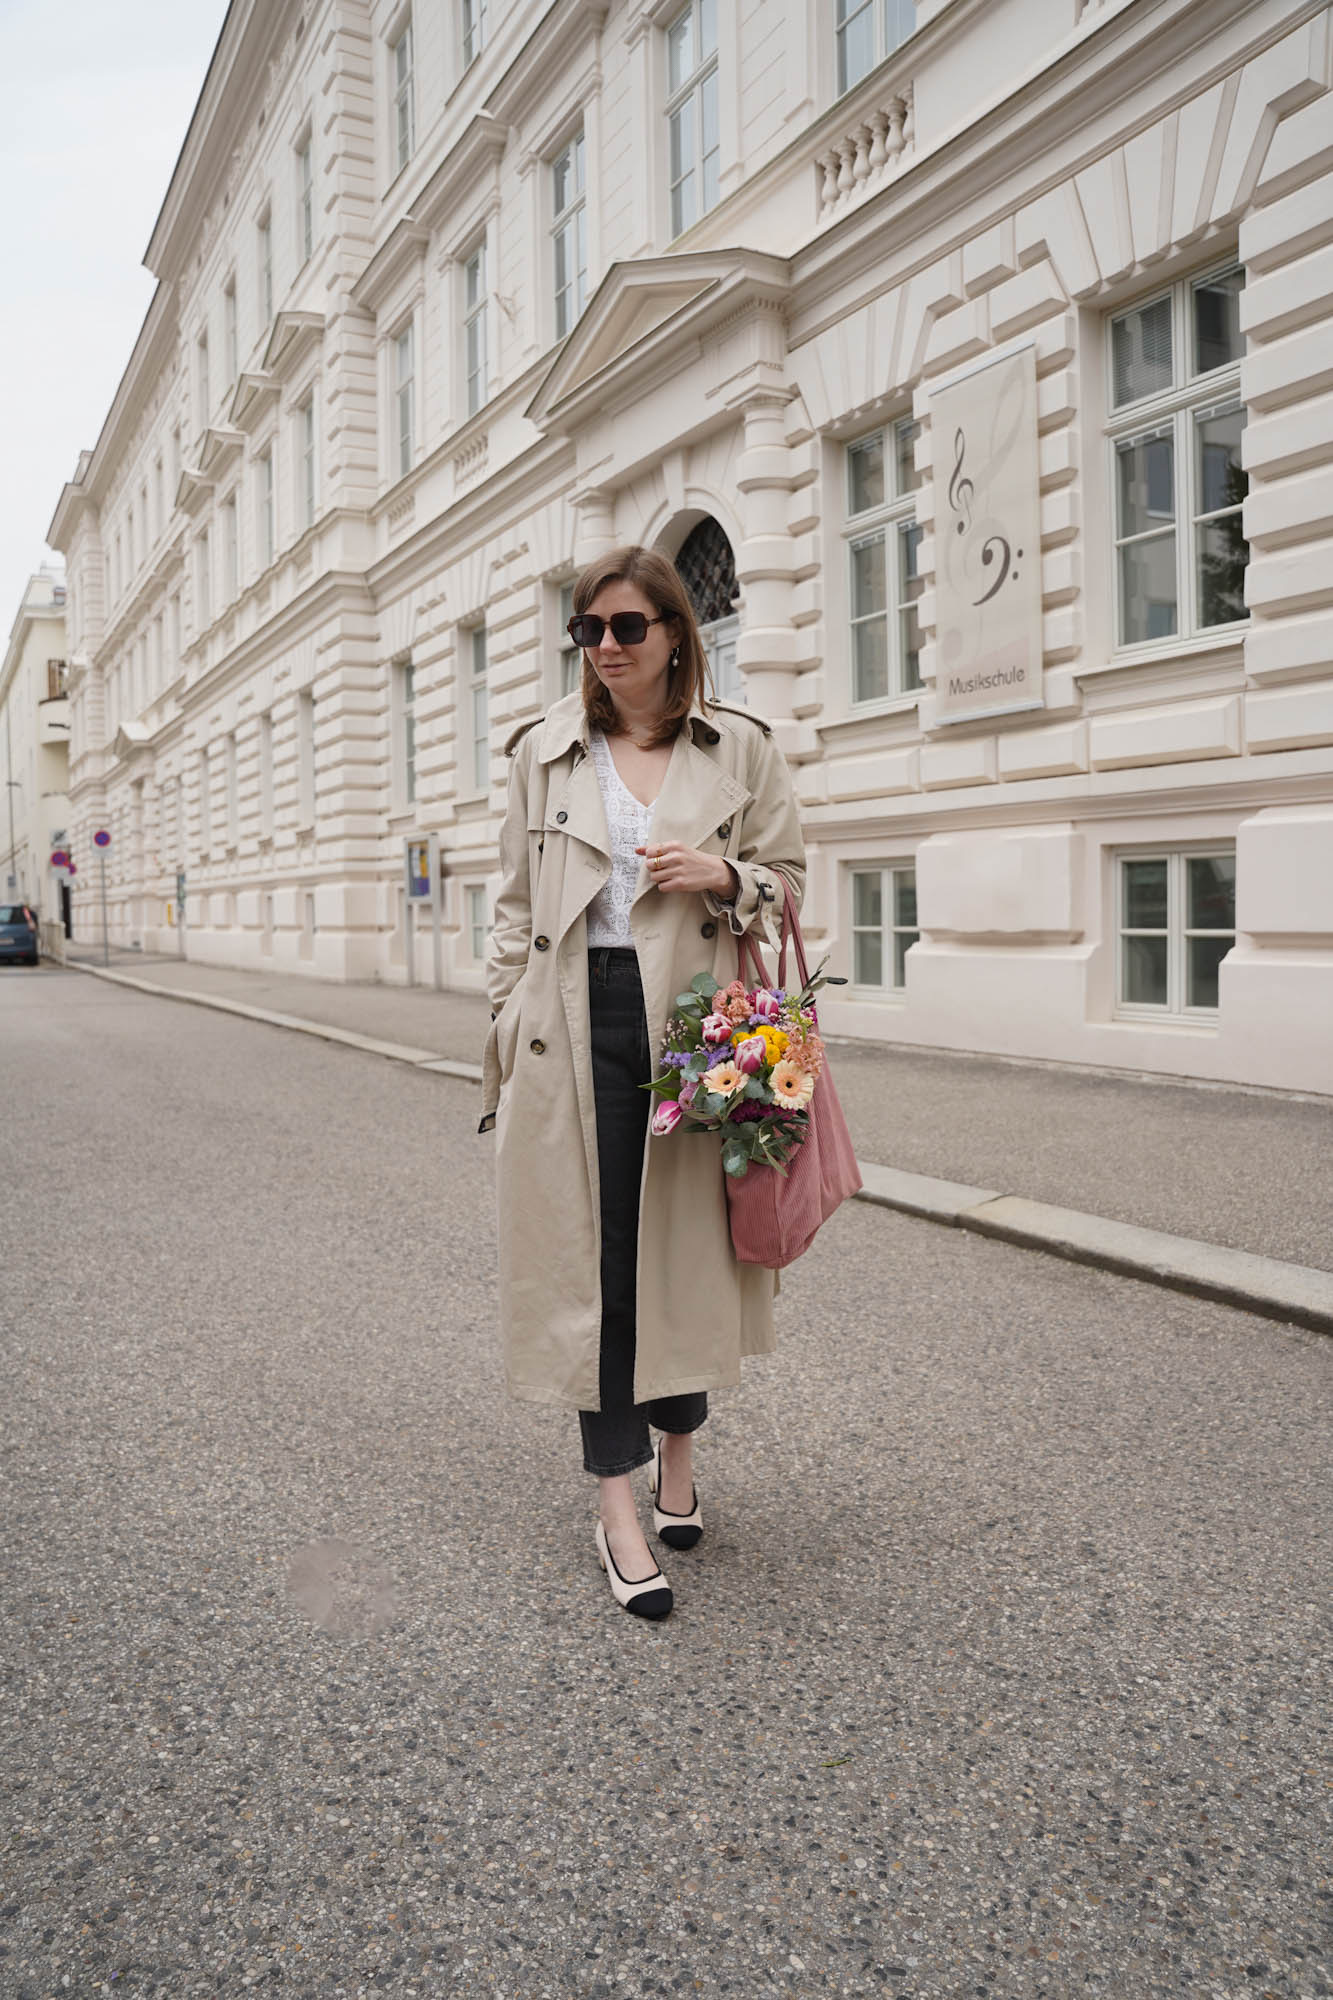
[[[0,1086],[4,2000],[1333,1994],[1327,1338],[849,1204],[648,1628],[472,1086],[50,968]]]

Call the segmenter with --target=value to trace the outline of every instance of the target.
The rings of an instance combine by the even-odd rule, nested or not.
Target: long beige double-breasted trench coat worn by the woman
[[[510,1394],[596,1410],[600,1200],[588,1036],[586,908],[610,876],[610,838],[588,754],[582,694],[504,746],[502,886],[486,952],[496,1018],[484,1052],[480,1130],[496,1132],[500,1330]],[[646,866],[630,930],[660,1048],[673,1000],[697,972],[737,976],[737,938],[779,936],[781,874],[797,902],[805,846],[791,772],[769,726],[695,710],[677,736],[650,840],[725,854],[735,904],[662,894]],[[739,1382],[741,1356],[775,1344],[773,1272],[737,1264],[721,1140],[648,1138],[640,1182],[634,1400]]]

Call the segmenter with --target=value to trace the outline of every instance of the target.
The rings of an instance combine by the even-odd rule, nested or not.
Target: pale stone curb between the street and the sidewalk
[[[404,1062],[436,1076],[454,1076],[470,1084],[482,1080],[478,1062],[458,1062],[430,1048],[380,1042],[350,1028],[334,1028],[300,1014],[274,1014],[242,1000],[226,1000],[222,994],[158,986],[152,980],[132,978],[128,972],[110,972],[106,966],[84,966],[70,960],[70,970],[90,972],[92,978],[110,980],[114,986],[132,986],[136,992],[162,1000],[186,1000],[190,1006],[240,1014],[242,1020],[258,1020],[270,1028],[292,1028],[296,1034],[314,1034],[324,1042],[342,1042],[368,1056],[386,1056],[390,1062]],[[859,1166],[865,1186],[857,1200],[877,1208],[895,1208],[899,1214],[925,1222],[971,1230],[975,1236],[995,1236],[1025,1250],[1045,1250],[1049,1256],[1061,1256],[1073,1264],[1091,1264],[1123,1278],[1141,1278],[1173,1292],[1189,1292],[1193,1298],[1211,1298],[1269,1320],[1333,1334],[1333,1272],[1255,1256],[1249,1250],[1229,1250],[1223,1244],[1197,1242],[1193,1236],[1169,1236],[1165,1230],[1145,1230],[1133,1222],[1113,1222],[1077,1208],[1053,1208],[1047,1202],[1029,1202],[1019,1194],[1003,1194],[997,1188],[971,1188],[957,1180],[935,1180],[931,1174],[909,1174],[873,1160],[863,1160]]]

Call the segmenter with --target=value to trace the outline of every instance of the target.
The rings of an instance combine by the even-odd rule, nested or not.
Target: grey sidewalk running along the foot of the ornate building
[[[96,972],[100,952],[76,946],[70,962]],[[366,1038],[402,1060],[442,1058],[462,1066],[462,1074],[478,1064],[490,1020],[484,998],[474,994],[342,986],[140,952],[112,952],[110,970],[172,994],[280,1014],[316,1032],[328,1028],[334,1038]],[[1327,1098],[873,1042],[833,1042],[831,1048],[867,1198],[987,1232],[1005,1226],[1005,1234],[1021,1242],[1033,1240],[1025,1234],[1033,1218],[1019,1210],[1043,1204],[1037,1234],[1051,1238],[1045,1248],[1113,1268],[1137,1268],[1163,1254],[1161,1246],[1153,1250],[1143,1242],[1131,1246],[1127,1260],[1117,1256],[1115,1228],[1105,1238],[1105,1226],[1123,1224],[1125,1244],[1135,1232],[1165,1232],[1195,1248],[1307,1266],[1311,1278],[1333,1272],[1333,1102]],[[873,1166],[887,1174],[871,1172]],[[917,1186],[913,1176],[927,1176],[927,1186]],[[1017,1208],[1013,1200],[997,1202],[985,1224],[971,1220],[971,1210],[995,1196],[1017,1198]],[[1085,1256],[1089,1246],[1079,1248],[1079,1234],[1091,1240],[1097,1232],[1075,1224],[1091,1220],[1103,1224],[1105,1254]],[[1057,1240],[1061,1236],[1065,1242]],[[1173,1282],[1161,1272],[1143,1274]],[[1209,1290],[1179,1282],[1187,1290]],[[1223,1288],[1215,1296],[1229,1292]]]

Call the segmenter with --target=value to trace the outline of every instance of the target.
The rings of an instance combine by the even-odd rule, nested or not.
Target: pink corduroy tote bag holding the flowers
[[[783,882],[783,944],[777,982],[769,980],[759,944],[749,934],[741,938],[739,976],[749,978],[749,954],[753,978],[761,986],[787,986],[789,942],[795,946],[797,972],[805,986],[811,976],[805,962],[805,938],[791,890]],[[795,1264],[815,1242],[819,1226],[861,1186],[857,1154],[839,1094],[833,1088],[827,1050],[809,1116],[809,1130],[787,1162],[785,1176],[775,1166],[757,1160],[739,1180],[733,1174],[723,1176],[727,1180],[731,1246],[741,1264],[763,1264],[767,1270],[785,1270],[787,1264]]]

